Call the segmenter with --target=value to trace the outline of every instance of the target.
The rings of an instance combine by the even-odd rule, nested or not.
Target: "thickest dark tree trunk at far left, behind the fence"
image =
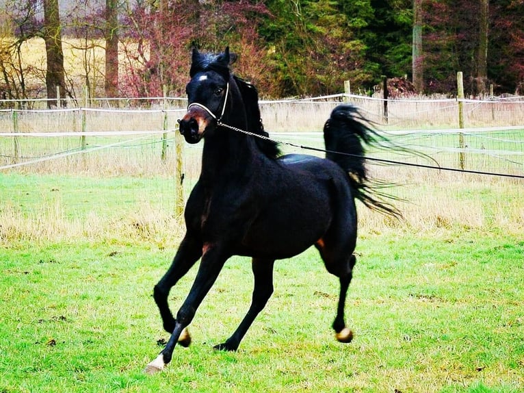
[[[65,97],[66,95],[64,52],[62,51],[62,31],[58,0],[44,0],[44,40],[47,56],[47,107],[53,107],[58,106],[57,86],[60,87],[60,97]]]

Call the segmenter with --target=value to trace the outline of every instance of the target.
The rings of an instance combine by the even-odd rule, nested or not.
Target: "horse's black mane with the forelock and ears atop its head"
[[[240,91],[242,101],[244,101],[244,107],[246,108],[248,121],[248,129],[246,131],[267,137],[269,134],[264,130],[262,118],[260,116],[259,92],[257,92],[257,88],[252,84],[236,75],[233,75],[230,65],[233,64],[235,60],[237,60],[237,55],[235,55],[235,53],[229,53],[228,47],[224,53],[219,53],[218,55],[213,53],[200,53],[198,50],[194,49],[189,76],[194,77],[194,75],[202,71],[215,71],[222,75],[222,77],[227,81],[230,80],[230,78],[233,78]],[[278,142],[263,138],[254,138],[257,147],[262,151],[262,153],[267,155],[267,157],[276,158],[280,155]]]

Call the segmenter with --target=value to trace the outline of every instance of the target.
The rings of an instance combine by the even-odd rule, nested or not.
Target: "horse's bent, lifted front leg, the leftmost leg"
[[[175,320],[168,304],[169,292],[176,282],[192,268],[201,255],[202,244],[186,235],[178,251],[176,251],[170,268],[153,289],[153,298],[155,303],[157,303],[162,318],[163,329],[168,333],[173,333],[175,325]],[[182,338],[185,339],[185,342],[188,342],[188,340],[190,342],[189,335],[184,334]]]

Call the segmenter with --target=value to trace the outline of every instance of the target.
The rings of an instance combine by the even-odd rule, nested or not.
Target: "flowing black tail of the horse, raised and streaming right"
[[[373,210],[399,218],[402,214],[387,202],[387,199],[395,200],[395,197],[380,191],[387,184],[371,180],[365,166],[363,142],[371,146],[384,146],[387,138],[365,123],[369,124],[353,105],[335,107],[324,125],[326,158],[348,172],[356,199]]]

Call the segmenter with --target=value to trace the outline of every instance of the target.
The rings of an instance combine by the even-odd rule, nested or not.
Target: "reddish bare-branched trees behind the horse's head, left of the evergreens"
[[[162,0],[157,7],[137,3],[125,21],[129,28],[122,40],[127,59],[122,92],[159,97],[162,86],[167,86],[170,94],[183,94],[191,47],[211,51],[238,47],[239,75],[267,83],[256,29],[263,14],[267,14],[263,3],[255,1]]]

